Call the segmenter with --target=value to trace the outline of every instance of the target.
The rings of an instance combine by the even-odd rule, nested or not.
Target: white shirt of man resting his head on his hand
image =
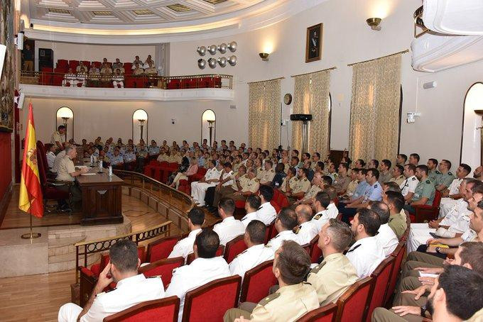
[[[102,321],[106,316],[129,309],[141,302],[163,297],[161,277],[146,278],[143,274],[128,277],[119,281],[111,292],[97,294],[89,311],[80,318],[80,321]]]

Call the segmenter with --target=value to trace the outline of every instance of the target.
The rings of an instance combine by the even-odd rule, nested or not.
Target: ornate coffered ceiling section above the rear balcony
[[[237,13],[266,0],[29,0],[30,18],[58,23],[138,25]],[[269,1],[267,1],[269,2]]]

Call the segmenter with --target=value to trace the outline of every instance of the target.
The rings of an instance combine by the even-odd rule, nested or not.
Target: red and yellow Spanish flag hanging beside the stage
[[[28,105],[28,125],[23,146],[22,178],[18,208],[38,218],[43,216],[42,189],[37,165],[36,128],[33,125],[32,103]]]

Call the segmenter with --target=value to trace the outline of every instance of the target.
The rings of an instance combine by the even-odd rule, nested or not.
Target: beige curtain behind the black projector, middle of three
[[[330,150],[330,70],[295,76],[294,114],[312,114],[308,151],[327,155]],[[302,122],[292,123],[292,147],[302,151]]]

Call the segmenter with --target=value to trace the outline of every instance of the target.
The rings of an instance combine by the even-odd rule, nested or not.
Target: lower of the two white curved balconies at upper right
[[[440,72],[483,59],[483,36],[428,32],[413,40],[412,65],[420,72]]]

